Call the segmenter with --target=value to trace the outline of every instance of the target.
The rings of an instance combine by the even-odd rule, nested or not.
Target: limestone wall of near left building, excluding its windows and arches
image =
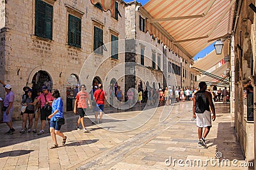
[[[46,0],[45,0],[46,1]],[[119,39],[125,38],[125,13],[124,3],[118,1],[118,10],[121,17],[118,20],[111,17],[110,11],[104,12],[95,8],[90,0],[85,1],[53,1],[53,29],[52,40],[39,38],[35,36],[35,1],[19,0],[7,1],[6,3],[6,27],[10,31],[5,32],[5,61],[4,81],[13,86],[15,92],[15,114],[13,118],[20,117],[19,103],[23,93],[22,87],[32,86],[32,78],[37,71],[46,71],[52,79],[53,89],[59,89],[61,96],[66,101],[66,84],[70,74],[79,76],[81,83],[85,83],[88,87],[92,87],[94,76],[99,76],[102,80],[105,70],[97,70],[99,64],[104,61],[104,57],[109,56],[111,49],[104,51],[103,56],[93,55],[91,62],[88,64],[86,73],[81,72],[84,62],[93,52],[93,24],[100,24],[103,27],[103,41],[109,43],[111,41],[111,32],[118,34]],[[81,17],[81,48],[68,45],[68,11],[70,6],[77,11],[83,13]],[[120,54],[118,60],[105,60],[106,69],[114,65],[124,62],[124,54]],[[19,71],[19,74],[17,73]],[[1,73],[3,73],[1,71]],[[108,78],[107,81],[111,81]],[[3,89],[1,89],[3,94]]]

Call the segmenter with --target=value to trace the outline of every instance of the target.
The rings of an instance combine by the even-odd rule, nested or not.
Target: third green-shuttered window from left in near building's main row
[[[103,30],[94,26],[93,50],[95,53],[103,54]]]

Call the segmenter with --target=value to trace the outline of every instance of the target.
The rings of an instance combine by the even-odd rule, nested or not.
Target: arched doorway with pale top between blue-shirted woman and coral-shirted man
[[[66,92],[67,92],[67,111],[74,109],[74,101],[78,92],[79,78],[76,74],[70,74],[67,78]]]

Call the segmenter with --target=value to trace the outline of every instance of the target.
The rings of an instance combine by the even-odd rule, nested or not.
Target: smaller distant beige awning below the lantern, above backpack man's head
[[[228,83],[229,80],[227,78],[227,69],[228,69],[228,64],[226,63],[226,64],[223,64],[222,66],[218,67],[211,73],[207,73],[206,71],[200,71],[202,74],[205,74],[205,76],[200,78],[198,81]]]

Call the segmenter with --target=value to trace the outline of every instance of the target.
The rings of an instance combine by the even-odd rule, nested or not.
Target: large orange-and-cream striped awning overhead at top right
[[[231,34],[236,0],[150,0],[143,8],[191,56],[195,56],[215,39]],[[146,24],[147,31],[156,32]],[[161,39],[166,41],[166,39]],[[171,43],[171,45],[172,45]],[[169,41],[164,44],[170,44]]]

